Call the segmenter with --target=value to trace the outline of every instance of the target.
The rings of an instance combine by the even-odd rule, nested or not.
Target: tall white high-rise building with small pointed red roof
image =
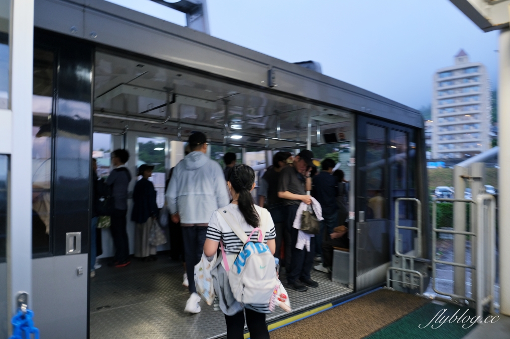
[[[491,148],[491,83],[482,63],[461,49],[434,74],[432,158],[467,158]]]

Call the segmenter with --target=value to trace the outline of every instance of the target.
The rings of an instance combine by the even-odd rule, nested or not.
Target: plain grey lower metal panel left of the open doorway
[[[41,339],[87,337],[87,265],[87,254],[32,261],[34,322]]]

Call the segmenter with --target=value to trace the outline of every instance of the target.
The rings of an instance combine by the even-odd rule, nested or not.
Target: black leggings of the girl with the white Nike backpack
[[[266,314],[245,309],[246,325],[250,331],[251,339],[269,339],[269,331],[266,325]],[[233,315],[225,315],[226,339],[243,339],[244,337],[244,313],[243,311]]]

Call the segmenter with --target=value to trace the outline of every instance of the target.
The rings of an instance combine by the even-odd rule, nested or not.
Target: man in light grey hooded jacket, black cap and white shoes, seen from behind
[[[221,166],[206,156],[207,139],[201,132],[190,135],[191,153],[179,162],[166,192],[172,221],[181,221],[186,271],[190,277],[191,296],[185,312],[199,313],[200,297],[196,293],[195,265],[200,261],[206,241],[207,226],[214,211],[230,203]]]

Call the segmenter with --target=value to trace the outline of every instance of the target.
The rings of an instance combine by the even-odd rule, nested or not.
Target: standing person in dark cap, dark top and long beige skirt
[[[143,261],[156,260],[156,246],[149,243],[152,222],[158,217],[158,204],[156,203],[156,190],[149,181],[154,166],[142,164],[138,168],[138,180],[133,191],[133,211],[131,220],[135,221],[135,257]]]

